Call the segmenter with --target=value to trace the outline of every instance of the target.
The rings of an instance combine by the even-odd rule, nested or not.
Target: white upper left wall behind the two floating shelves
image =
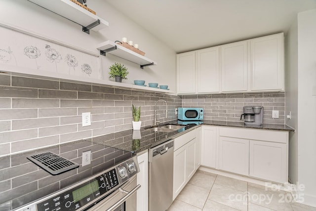
[[[139,49],[146,57],[156,61],[157,66],[148,66],[144,70],[139,65],[113,55],[102,56],[103,79],[108,79],[109,66],[114,62],[125,64],[128,68],[128,80],[123,83],[133,84],[133,80],[146,80],[169,85],[170,91],[176,92],[175,51],[160,42],[154,35],[129,20],[104,0],[89,0],[88,7],[109,22],[110,26],[99,32],[90,30],[90,35],[81,32],[81,26],[56,15],[28,0],[1,0],[0,22],[24,28],[53,40],[99,53],[96,45],[107,40],[121,40],[127,37],[139,44]]]

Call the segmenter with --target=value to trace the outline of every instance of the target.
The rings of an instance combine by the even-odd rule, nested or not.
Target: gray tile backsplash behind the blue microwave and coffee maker
[[[284,124],[285,93],[205,94],[182,96],[183,107],[204,109],[205,120],[243,122],[243,106],[264,106],[263,123]],[[272,111],[279,111],[279,118],[272,118]]]

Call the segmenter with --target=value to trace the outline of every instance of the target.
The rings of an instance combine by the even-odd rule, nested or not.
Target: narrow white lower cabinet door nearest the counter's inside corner
[[[217,127],[202,126],[201,165],[216,168]]]

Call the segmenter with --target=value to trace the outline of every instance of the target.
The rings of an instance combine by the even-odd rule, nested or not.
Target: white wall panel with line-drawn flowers
[[[79,81],[102,79],[99,54],[12,26],[1,25],[0,34],[0,69],[3,71]]]

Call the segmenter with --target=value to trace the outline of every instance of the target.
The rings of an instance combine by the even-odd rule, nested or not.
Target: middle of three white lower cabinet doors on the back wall
[[[249,140],[220,136],[219,169],[249,175]]]

